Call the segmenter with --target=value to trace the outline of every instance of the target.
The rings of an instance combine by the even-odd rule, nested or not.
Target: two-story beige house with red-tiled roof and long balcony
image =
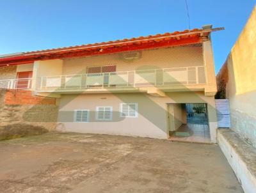
[[[216,142],[210,35],[219,29],[2,55],[0,86],[58,98],[58,130],[167,139],[204,117],[189,135]]]

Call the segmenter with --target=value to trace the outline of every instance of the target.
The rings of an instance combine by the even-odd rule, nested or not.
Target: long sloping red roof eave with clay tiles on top
[[[132,38],[130,40],[119,40],[116,42],[95,43],[93,45],[89,44],[78,47],[24,52],[20,55],[15,54],[15,56],[0,58],[0,66],[20,65],[24,63],[32,63],[36,60],[95,56],[131,50],[188,45],[200,43],[204,41],[205,37],[207,38],[212,31],[222,29],[223,27],[213,29],[197,29],[196,31],[183,31],[183,33],[177,32],[177,34],[167,33],[164,35]]]

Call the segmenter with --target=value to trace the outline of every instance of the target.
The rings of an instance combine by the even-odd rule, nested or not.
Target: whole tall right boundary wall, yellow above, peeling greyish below
[[[256,6],[228,58],[231,127],[256,147]]]

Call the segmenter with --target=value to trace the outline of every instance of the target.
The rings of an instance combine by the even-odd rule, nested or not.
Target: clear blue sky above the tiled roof
[[[216,72],[256,0],[187,0],[191,28],[212,34]],[[185,0],[0,1],[0,54],[67,47],[188,29]]]

